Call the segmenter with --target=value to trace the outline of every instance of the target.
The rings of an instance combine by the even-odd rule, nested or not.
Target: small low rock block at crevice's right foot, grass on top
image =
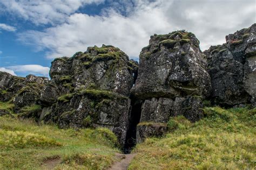
[[[142,143],[149,137],[161,137],[167,131],[167,126],[164,123],[142,122],[137,126],[136,140],[137,143]]]

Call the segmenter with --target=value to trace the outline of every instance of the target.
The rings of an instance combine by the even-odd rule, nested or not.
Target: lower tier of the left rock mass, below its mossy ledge
[[[52,122],[57,122],[60,128],[109,128],[123,146],[129,112],[128,97],[110,91],[84,90],[80,94],[59,97]]]

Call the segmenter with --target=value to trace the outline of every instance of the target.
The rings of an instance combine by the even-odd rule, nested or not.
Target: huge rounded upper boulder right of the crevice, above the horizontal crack
[[[192,33],[176,31],[151,36],[140,52],[138,79],[132,93],[138,98],[210,94],[206,58]]]

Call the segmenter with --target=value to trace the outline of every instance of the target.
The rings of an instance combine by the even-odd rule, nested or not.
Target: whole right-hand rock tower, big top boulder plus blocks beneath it
[[[134,97],[145,100],[140,122],[163,124],[178,115],[198,121],[203,116],[202,100],[211,92],[206,65],[206,56],[193,33],[151,36],[149,46],[140,52],[138,79],[131,89]],[[137,142],[151,136],[153,127],[137,126]]]

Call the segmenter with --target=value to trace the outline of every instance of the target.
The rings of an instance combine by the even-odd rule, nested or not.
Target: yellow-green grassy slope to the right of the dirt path
[[[204,110],[201,121],[173,118],[176,130],[138,144],[129,169],[256,168],[256,109]]]

